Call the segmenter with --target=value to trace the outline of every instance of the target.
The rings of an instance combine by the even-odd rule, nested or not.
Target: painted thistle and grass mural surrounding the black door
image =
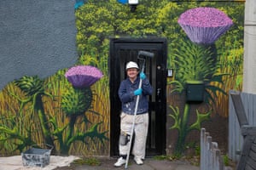
[[[110,37],[168,41],[168,154],[198,147],[202,126],[226,142],[219,120],[227,123],[229,90],[241,90],[244,1],[140,0],[135,11],[125,0],[76,2],[76,65],[45,79],[21,77],[1,91],[1,155],[42,143],[61,155],[109,154]],[[201,82],[203,102],[187,101],[188,84]]]

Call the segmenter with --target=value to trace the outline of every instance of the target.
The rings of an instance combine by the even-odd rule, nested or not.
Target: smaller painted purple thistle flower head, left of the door
[[[90,65],[71,67],[66,73],[68,82],[75,88],[88,88],[103,77],[102,71]]]

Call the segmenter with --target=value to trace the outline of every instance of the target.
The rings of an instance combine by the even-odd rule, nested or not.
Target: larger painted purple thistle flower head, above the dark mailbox
[[[180,15],[177,23],[192,42],[212,44],[228,31],[233,21],[217,8],[191,8]]]

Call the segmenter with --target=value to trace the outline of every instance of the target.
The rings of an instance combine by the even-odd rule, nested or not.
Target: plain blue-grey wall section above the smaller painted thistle
[[[49,77],[77,60],[75,0],[0,0],[0,90]]]

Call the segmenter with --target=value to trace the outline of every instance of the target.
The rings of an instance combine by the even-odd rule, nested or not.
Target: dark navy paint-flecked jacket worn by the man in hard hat
[[[122,111],[129,115],[134,115],[137,96],[134,95],[134,91],[139,87],[140,77],[137,77],[135,82],[131,82],[129,78],[126,78],[120,83],[119,86],[119,99],[122,102]],[[147,95],[153,93],[153,88],[150,85],[147,78],[142,83],[143,94],[140,95],[139,103],[137,107],[137,115],[148,112],[148,99]]]

